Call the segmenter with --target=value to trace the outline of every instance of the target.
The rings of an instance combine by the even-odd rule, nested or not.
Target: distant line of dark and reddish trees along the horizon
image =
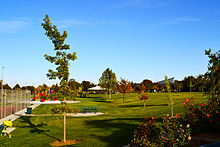
[[[0,83],[1,84],[1,83]],[[80,88],[82,91],[88,91],[89,88],[96,86],[94,83],[90,81],[82,81],[81,83],[77,82],[75,79],[70,79],[68,81],[69,87],[72,91],[77,91]],[[113,82],[114,85],[111,89],[113,93],[119,92],[120,88],[118,88],[117,84],[118,82]],[[167,91],[165,85],[162,85],[158,82],[152,82],[149,79],[144,79],[141,83],[134,83],[130,82],[133,91],[132,92],[138,92],[140,91],[141,84],[145,86],[145,92],[154,92],[154,91]],[[105,87],[102,84],[103,87]],[[46,84],[42,84],[38,87],[34,86],[23,86],[21,87],[19,84],[16,84],[14,87],[10,87],[8,84],[3,85],[3,89],[9,89],[9,90],[30,90],[32,93],[34,93],[35,89],[41,88],[42,91],[46,91],[49,89],[54,89],[55,92],[58,92],[60,89],[60,86],[58,84],[53,84],[51,87],[47,86]],[[175,80],[174,83],[170,83],[170,88],[172,92],[205,92],[209,88],[209,79],[206,78],[206,75],[198,75],[196,77],[194,76],[187,76],[182,81]],[[109,88],[107,88],[109,91]]]

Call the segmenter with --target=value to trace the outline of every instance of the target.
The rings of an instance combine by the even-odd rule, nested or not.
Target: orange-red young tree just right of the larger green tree
[[[125,79],[121,78],[121,81],[118,82],[117,87],[118,87],[119,92],[123,94],[123,103],[124,103],[125,102],[125,94],[133,91],[133,88],[131,86],[131,82],[128,82]]]

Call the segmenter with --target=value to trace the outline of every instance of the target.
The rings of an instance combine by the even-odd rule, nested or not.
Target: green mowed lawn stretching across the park
[[[175,105],[174,113],[183,113],[183,101],[194,97],[194,103],[206,101],[203,93],[172,93]],[[97,98],[107,101],[97,102]],[[67,139],[77,139],[82,142],[71,146],[83,147],[122,147],[127,145],[133,136],[133,131],[144,118],[170,113],[166,93],[150,93],[146,107],[138,99],[137,93],[125,95],[122,103],[121,94],[113,94],[109,100],[105,95],[87,95],[87,98],[76,98],[79,104],[71,107],[99,107],[104,115],[89,117],[67,117]],[[34,114],[49,114],[55,105],[40,105],[34,109]],[[16,130],[11,133],[12,138],[0,137],[0,146],[31,146],[46,147],[49,143],[63,139],[63,119],[55,116],[23,116],[13,122]]]

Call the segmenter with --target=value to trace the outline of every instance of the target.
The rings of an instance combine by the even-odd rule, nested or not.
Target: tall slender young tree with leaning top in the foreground
[[[69,79],[69,66],[70,61],[74,61],[76,57],[76,52],[68,53],[67,51],[70,50],[70,46],[68,44],[64,44],[65,39],[67,38],[67,32],[64,31],[61,35],[60,32],[57,30],[55,25],[52,25],[50,18],[46,15],[45,19],[43,20],[42,27],[46,31],[45,35],[52,41],[54,44],[54,51],[56,52],[55,56],[49,56],[47,54],[44,55],[45,59],[50,63],[54,63],[56,70],[53,71],[49,69],[47,77],[52,80],[58,78],[61,80],[60,85],[61,89],[59,91],[60,96],[64,97],[64,101],[69,94],[69,86],[68,86],[68,79]],[[66,111],[64,110],[64,142],[66,142]]]

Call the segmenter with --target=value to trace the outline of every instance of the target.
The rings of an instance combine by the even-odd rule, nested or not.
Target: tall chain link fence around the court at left
[[[28,90],[0,89],[0,119],[30,106],[30,98]]]

